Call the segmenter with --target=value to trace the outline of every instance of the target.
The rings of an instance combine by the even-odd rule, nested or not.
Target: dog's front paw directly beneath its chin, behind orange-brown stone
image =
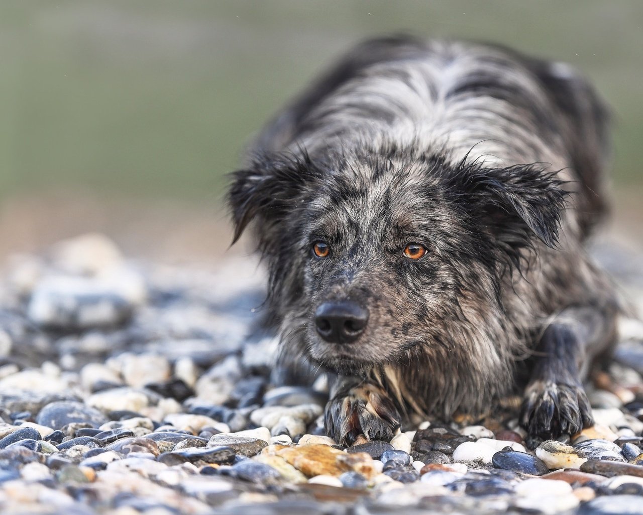
[[[400,415],[386,392],[360,384],[332,398],[326,405],[326,432],[338,444],[352,445],[358,435],[388,442],[400,427]]]

